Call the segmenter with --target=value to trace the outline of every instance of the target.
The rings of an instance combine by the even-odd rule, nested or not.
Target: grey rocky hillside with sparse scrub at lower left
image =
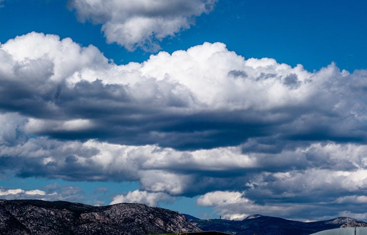
[[[198,232],[184,215],[144,204],[89,206],[66,201],[0,200],[0,234],[163,234]]]

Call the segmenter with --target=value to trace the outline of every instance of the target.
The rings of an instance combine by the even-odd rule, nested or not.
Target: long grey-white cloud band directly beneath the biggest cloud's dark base
[[[241,146],[177,151],[37,137],[2,146],[0,161],[3,170],[23,177],[138,180],[144,190],[185,196],[238,189],[263,203],[262,198],[270,196],[317,201],[331,200],[330,192],[363,193],[366,149],[366,145],[329,143],[277,154],[243,154]]]

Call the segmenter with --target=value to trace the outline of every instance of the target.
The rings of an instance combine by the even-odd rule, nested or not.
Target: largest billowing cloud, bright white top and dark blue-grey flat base
[[[245,143],[243,152],[273,153],[366,141],[364,70],[331,64],[310,73],[244,59],[223,43],[115,65],[93,46],[38,33],[0,52],[0,107],[29,117],[27,134],[181,150]]]

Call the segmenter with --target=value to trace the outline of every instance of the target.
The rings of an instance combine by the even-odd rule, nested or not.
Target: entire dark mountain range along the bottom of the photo
[[[251,215],[243,220],[199,219],[138,203],[90,206],[67,201],[0,199],[0,234],[168,234],[219,231],[233,235],[309,235],[340,227],[367,227],[354,218],[300,222]]]

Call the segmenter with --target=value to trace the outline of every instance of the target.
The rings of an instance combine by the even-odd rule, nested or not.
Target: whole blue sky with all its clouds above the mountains
[[[367,221],[366,11],[0,0],[0,198]]]

